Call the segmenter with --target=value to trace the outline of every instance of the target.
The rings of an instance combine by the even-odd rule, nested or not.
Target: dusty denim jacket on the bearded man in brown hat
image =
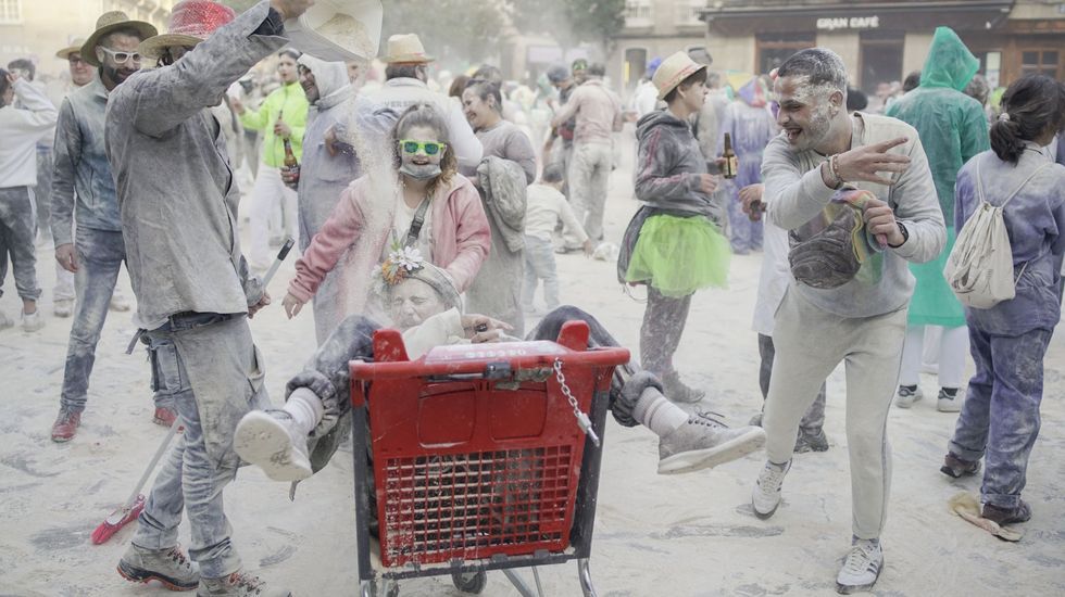
[[[103,150],[108,89],[100,76],[63,100],[55,125],[52,170],[52,237],[55,246],[74,242],[72,226],[121,231],[118,199]]]

